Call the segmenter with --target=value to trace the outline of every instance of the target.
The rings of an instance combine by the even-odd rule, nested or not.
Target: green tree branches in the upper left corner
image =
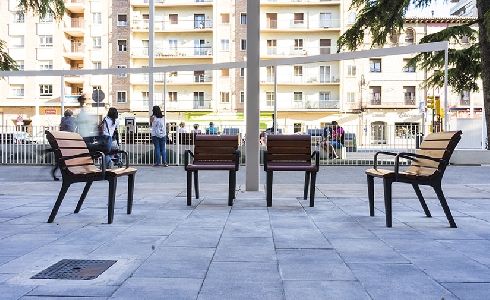
[[[65,14],[63,0],[20,0],[19,10],[24,13],[31,12],[41,18],[53,14],[56,20],[61,20]],[[6,42],[0,40],[0,71],[18,70],[17,63],[6,52]]]

